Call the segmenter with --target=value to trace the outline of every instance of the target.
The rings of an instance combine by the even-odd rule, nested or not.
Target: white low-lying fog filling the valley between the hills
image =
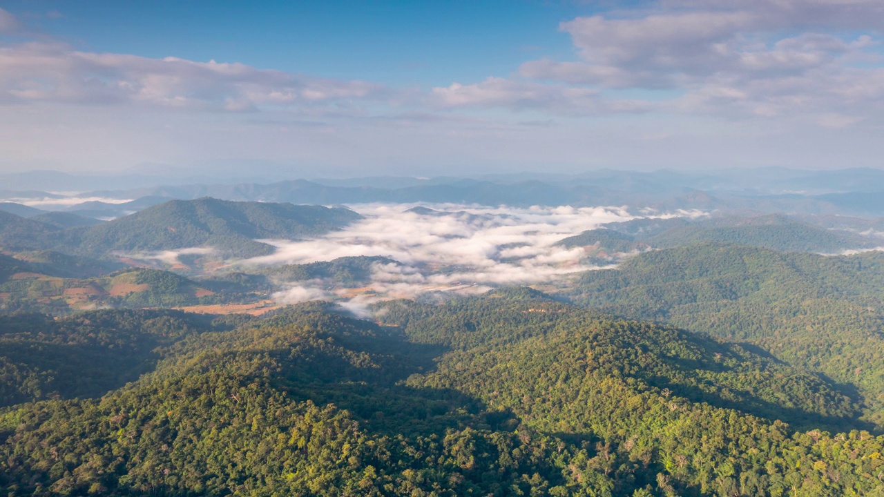
[[[293,299],[337,298],[364,312],[378,299],[413,298],[421,294],[476,294],[492,287],[554,283],[587,264],[583,248],[565,248],[561,239],[604,223],[635,216],[622,207],[484,207],[433,205],[354,205],[365,216],[345,229],[308,241],[267,241],[277,247],[271,256],[249,259],[247,265],[307,264],[343,256],[385,256],[397,263],[374,264],[369,287],[354,294],[316,280],[299,282],[277,294]],[[697,216],[679,212],[657,217]],[[358,312],[357,312],[358,313]]]

